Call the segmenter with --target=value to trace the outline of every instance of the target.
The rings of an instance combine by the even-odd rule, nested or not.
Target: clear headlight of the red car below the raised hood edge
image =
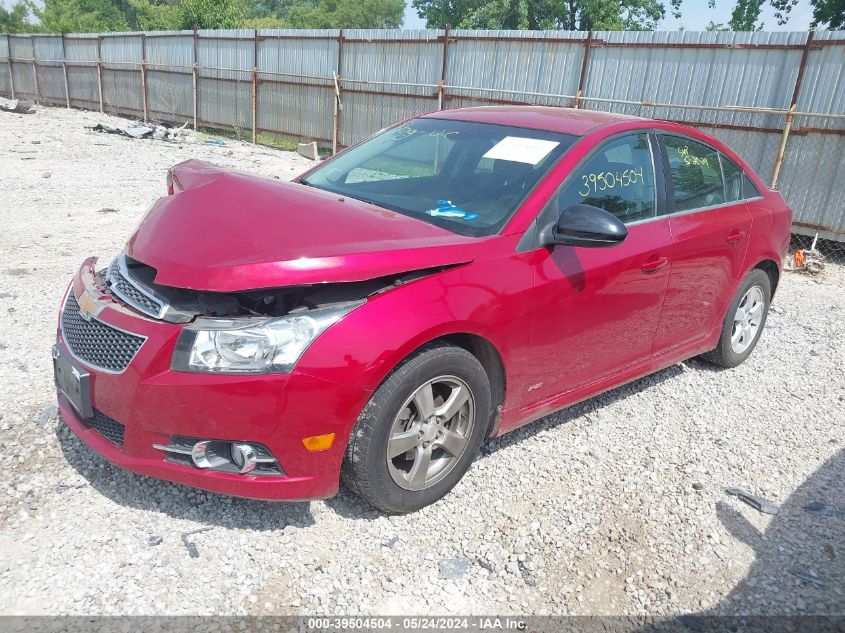
[[[287,373],[345,305],[270,319],[197,319],[179,335],[171,369],[213,373]]]

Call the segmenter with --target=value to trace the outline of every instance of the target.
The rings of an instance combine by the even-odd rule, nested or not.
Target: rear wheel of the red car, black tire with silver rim
[[[740,336],[741,333],[735,329],[735,325],[740,330],[743,329],[742,321],[737,321],[741,318],[741,314],[746,315],[745,309],[752,306],[752,315],[757,314],[757,309],[753,308],[753,301],[761,304],[759,308],[758,320],[752,318],[746,321],[747,327],[753,328],[753,333],[750,330],[745,330],[745,335]],[[725,322],[722,324],[722,334],[719,337],[719,344],[716,349],[702,354],[701,359],[718,365],[719,367],[736,367],[746,358],[751,355],[754,348],[757,346],[757,341],[760,340],[760,335],[763,333],[763,328],[766,326],[766,317],[769,314],[769,306],[772,301],[772,287],[769,276],[759,268],[753,269],[749,272],[742,283],[739,285],[736,295],[728,306],[727,314],[725,315]],[[738,337],[738,340],[737,340]]]

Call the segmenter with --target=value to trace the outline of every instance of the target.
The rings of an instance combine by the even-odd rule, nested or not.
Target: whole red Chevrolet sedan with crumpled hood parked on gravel
[[[791,211],[696,130],[490,107],[388,128],[291,183],[188,161],[85,261],[54,348],[118,466],[407,512],[481,444],[692,356],[744,361]]]

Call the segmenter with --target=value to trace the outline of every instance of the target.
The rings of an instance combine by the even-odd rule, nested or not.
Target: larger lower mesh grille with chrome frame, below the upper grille
[[[111,372],[126,369],[145,340],[94,318],[87,321],[79,314],[79,303],[72,292],[62,310],[62,336],[74,356]]]

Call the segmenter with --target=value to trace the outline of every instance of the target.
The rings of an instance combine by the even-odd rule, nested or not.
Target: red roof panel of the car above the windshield
[[[456,108],[440,110],[423,115],[426,118],[449,119],[451,121],[475,121],[525,127],[563,134],[583,135],[593,128],[625,121],[651,121],[642,117],[583,110],[575,108],[556,108],[551,106],[483,106],[476,108]]]

